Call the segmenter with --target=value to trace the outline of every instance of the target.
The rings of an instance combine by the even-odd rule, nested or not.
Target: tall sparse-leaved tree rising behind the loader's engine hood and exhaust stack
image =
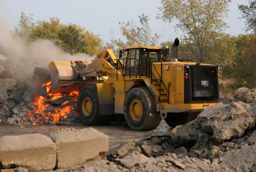
[[[159,19],[172,23],[185,33],[182,39],[190,59],[208,62],[216,40],[224,35],[231,0],[162,0]]]

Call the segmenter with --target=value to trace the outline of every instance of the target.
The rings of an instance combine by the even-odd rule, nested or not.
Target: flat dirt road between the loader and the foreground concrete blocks
[[[6,135],[21,135],[27,133],[40,133],[48,135],[54,130],[60,128],[72,127],[75,129],[82,129],[88,126],[85,126],[81,123],[73,123],[70,125],[38,125],[38,126],[14,126],[9,124],[0,124],[0,137]],[[109,147],[110,149],[119,145],[123,141],[130,141],[141,139],[141,137],[146,132],[138,132],[129,129],[126,123],[111,123],[107,126],[92,126],[94,129],[103,132],[109,137]],[[162,120],[160,126],[157,129],[159,130],[168,130],[169,126]]]

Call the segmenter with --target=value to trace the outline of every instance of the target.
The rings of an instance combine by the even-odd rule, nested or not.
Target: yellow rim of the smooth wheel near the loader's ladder
[[[135,121],[141,120],[143,116],[143,106],[141,100],[133,99],[130,103],[130,114]]]

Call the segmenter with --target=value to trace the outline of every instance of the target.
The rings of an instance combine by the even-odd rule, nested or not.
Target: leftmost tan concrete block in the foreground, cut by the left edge
[[[56,154],[56,144],[42,134],[0,138],[0,168],[20,166],[29,171],[52,170]]]

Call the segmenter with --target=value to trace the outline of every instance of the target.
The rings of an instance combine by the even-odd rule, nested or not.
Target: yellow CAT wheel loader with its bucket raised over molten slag
[[[175,127],[218,102],[218,66],[178,60],[169,48],[132,46],[119,58],[107,49],[91,62],[49,63],[52,91],[78,90],[77,112],[85,125],[123,114],[133,130],[155,129],[162,118]],[[126,54],[126,57],[123,57]]]

